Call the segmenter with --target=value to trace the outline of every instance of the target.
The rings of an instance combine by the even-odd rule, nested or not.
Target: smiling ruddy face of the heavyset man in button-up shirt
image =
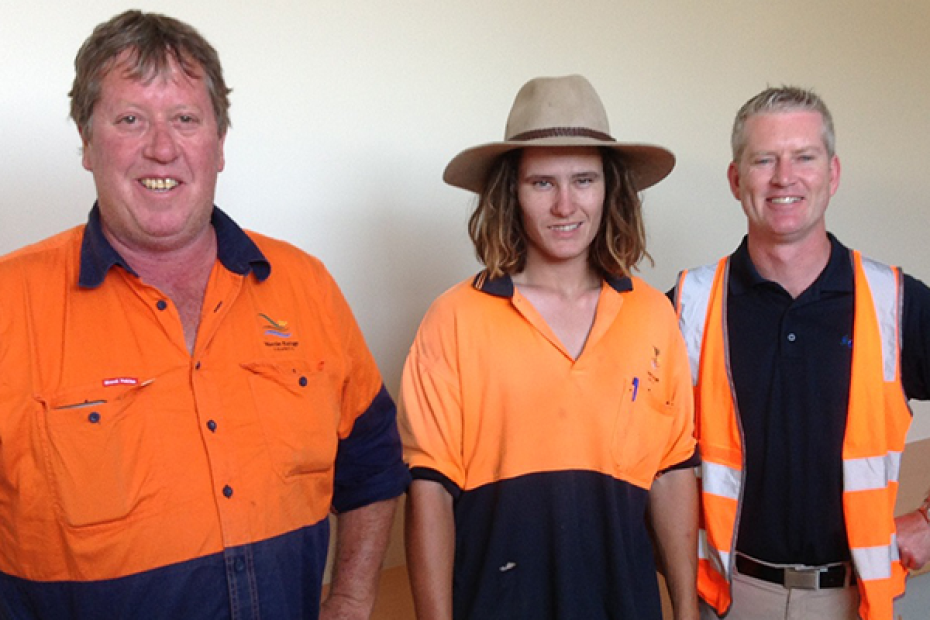
[[[225,136],[202,79],[172,59],[149,81],[117,62],[101,82],[84,140],[104,231],[130,249],[165,252],[206,233]]]

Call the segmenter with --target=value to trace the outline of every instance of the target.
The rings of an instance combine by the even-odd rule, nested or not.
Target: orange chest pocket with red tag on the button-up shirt
[[[40,397],[46,472],[65,523],[119,521],[158,495],[161,452],[152,416],[140,401],[147,384],[99,384]]]

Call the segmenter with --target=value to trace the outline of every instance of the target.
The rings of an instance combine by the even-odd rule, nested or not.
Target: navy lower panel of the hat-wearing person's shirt
[[[454,502],[455,620],[661,620],[649,491],[592,471],[499,480]]]

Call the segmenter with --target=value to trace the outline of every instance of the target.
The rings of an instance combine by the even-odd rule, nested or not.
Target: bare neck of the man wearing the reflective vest
[[[769,243],[749,235],[749,257],[766,280],[777,282],[797,298],[823,272],[830,261],[826,232],[792,243]]]

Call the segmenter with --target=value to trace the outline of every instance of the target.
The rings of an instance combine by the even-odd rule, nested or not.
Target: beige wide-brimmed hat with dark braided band
[[[580,75],[535,78],[514,99],[503,142],[465,149],[442,174],[449,185],[481,193],[488,171],[503,154],[527,147],[596,146],[617,151],[636,191],[664,179],[675,167],[671,151],[652,144],[618,142],[610,134],[601,98]]]

